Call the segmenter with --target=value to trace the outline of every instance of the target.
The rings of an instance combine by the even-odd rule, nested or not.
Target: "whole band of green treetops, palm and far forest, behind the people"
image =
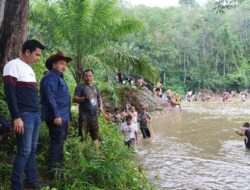
[[[65,49],[76,60],[77,83],[92,67],[105,80],[122,69],[180,92],[249,87],[250,0],[230,6],[182,0],[171,8],[117,0],[32,2],[30,37]]]

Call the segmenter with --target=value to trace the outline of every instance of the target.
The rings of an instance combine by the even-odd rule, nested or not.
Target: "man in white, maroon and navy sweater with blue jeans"
[[[31,65],[38,62],[43,49],[44,46],[37,40],[27,40],[22,46],[21,56],[5,64],[3,69],[5,96],[17,139],[12,190],[23,189],[24,173],[29,188],[39,189],[35,158],[40,114],[36,76]]]

